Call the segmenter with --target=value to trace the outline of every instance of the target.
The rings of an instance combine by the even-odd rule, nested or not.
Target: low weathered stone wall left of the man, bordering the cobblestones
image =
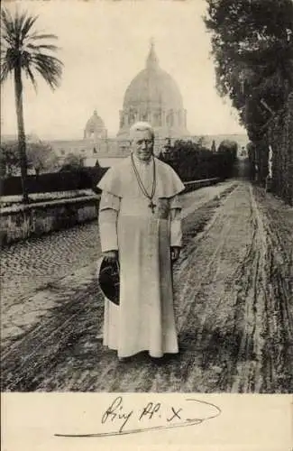
[[[1,209],[1,243],[11,244],[97,218],[98,196],[60,199]]]

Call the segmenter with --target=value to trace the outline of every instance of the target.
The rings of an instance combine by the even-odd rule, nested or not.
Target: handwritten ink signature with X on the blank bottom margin
[[[126,410],[123,397],[117,396],[100,419],[102,425],[113,425],[114,430],[93,434],[55,434],[55,437],[109,437],[197,426],[219,417],[221,413],[222,410],[215,404],[194,398],[185,399],[180,407],[149,401],[142,409]],[[136,428],[131,427],[132,422],[135,422]]]

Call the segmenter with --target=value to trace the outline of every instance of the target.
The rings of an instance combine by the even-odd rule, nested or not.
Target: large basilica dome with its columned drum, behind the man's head
[[[120,111],[118,138],[127,139],[136,121],[149,122],[159,138],[181,138],[188,135],[186,110],[176,81],[160,68],[151,43],[145,68],[131,81]]]

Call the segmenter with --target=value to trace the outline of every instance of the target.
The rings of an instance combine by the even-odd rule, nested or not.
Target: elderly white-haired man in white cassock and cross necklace
[[[120,305],[105,299],[104,345],[120,360],[141,351],[158,358],[179,352],[171,261],[181,247],[184,185],[153,156],[150,124],[133,124],[130,139],[131,155],[98,184],[102,252],[120,264]]]

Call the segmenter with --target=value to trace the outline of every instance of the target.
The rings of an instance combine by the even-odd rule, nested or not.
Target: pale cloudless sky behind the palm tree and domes
[[[5,6],[14,11],[18,2]],[[228,99],[215,89],[205,0],[38,0],[19,2],[37,14],[36,30],[59,37],[64,69],[51,91],[24,81],[25,132],[41,139],[82,139],[96,109],[108,134],[119,128],[124,92],[145,66],[151,39],[161,69],[176,80],[191,134],[245,133]],[[16,133],[13,80],[1,89],[1,134]]]

